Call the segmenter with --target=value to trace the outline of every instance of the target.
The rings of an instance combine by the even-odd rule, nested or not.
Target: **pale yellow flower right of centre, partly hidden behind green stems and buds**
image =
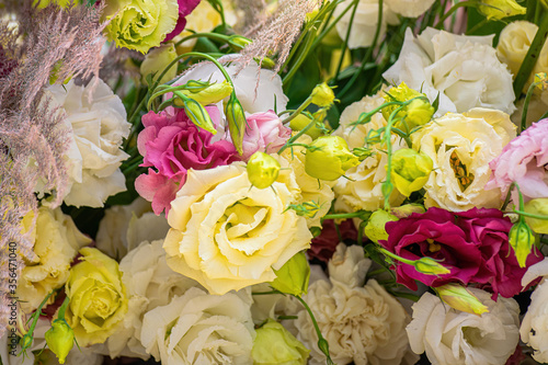
[[[350,149],[365,147],[364,140],[369,130],[376,130],[387,125],[381,113],[375,114],[370,122],[357,126],[351,125],[359,118],[362,113],[373,111],[385,103],[384,92],[380,91],[374,96],[365,96],[358,102],[349,105],[341,114],[339,128],[334,136],[343,137]],[[406,142],[398,136],[391,137],[392,151],[407,147]],[[363,160],[357,167],[346,170],[345,178],[340,178],[333,187],[335,192],[335,210],[355,212],[377,210],[384,206],[385,196],[381,191],[381,183],[386,181],[386,164],[388,157],[383,150],[386,146],[381,144],[369,145],[373,155]],[[393,190],[389,203],[391,206],[400,205],[406,197]]]

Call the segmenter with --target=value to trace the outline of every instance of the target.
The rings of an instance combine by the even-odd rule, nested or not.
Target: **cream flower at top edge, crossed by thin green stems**
[[[333,13],[334,18],[342,14],[344,9],[349,7],[351,1],[346,0],[340,3]],[[346,33],[349,31],[350,21],[352,16],[352,10],[347,11],[339,22],[336,22],[336,32],[342,39],[346,38]],[[375,32],[377,30],[378,21],[378,1],[377,0],[359,0],[356,8],[356,13],[352,22],[352,28],[349,38],[349,48],[359,48],[368,47],[373,44],[375,38]],[[379,37],[386,33],[386,25],[398,24],[398,16],[390,10],[389,7],[385,5],[383,9],[383,23],[380,25]]]

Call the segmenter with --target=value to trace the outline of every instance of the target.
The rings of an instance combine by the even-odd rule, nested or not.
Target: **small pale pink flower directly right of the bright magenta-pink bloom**
[[[285,127],[273,111],[251,114],[247,121],[242,156],[246,161],[256,151],[277,152],[292,136],[292,129]]]

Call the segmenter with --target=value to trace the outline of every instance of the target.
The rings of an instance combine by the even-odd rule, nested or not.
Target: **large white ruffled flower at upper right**
[[[511,114],[512,75],[496,58],[493,36],[464,36],[426,28],[418,37],[408,28],[398,61],[383,77],[421,90],[431,103],[439,95],[436,115],[490,107]]]

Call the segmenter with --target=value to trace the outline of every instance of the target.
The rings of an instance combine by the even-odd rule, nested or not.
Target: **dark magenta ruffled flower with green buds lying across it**
[[[430,208],[424,214],[386,224],[387,241],[379,241],[387,250],[409,260],[430,256],[439,260],[450,272],[426,275],[414,266],[398,264],[398,283],[416,290],[415,280],[436,287],[459,282],[478,284],[493,292],[512,297],[522,290],[521,281],[527,267],[543,259],[535,249],[526,267],[520,267],[509,243],[512,223],[498,209],[473,208],[450,213]]]

